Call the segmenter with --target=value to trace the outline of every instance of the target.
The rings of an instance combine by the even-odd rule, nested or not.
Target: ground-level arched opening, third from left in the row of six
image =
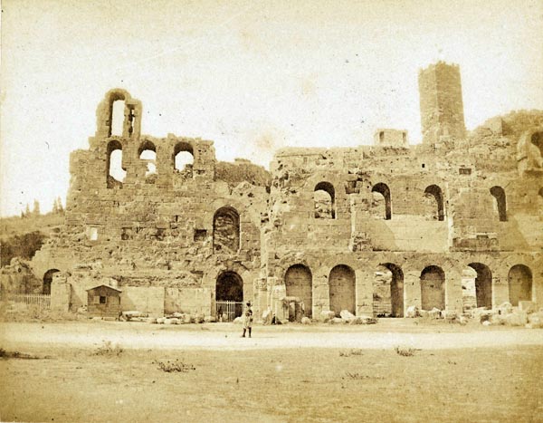
[[[378,317],[404,316],[404,273],[392,263],[379,264],[373,286],[373,309]]]

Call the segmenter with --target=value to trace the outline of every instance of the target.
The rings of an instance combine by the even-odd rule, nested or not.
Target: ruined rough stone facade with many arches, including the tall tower
[[[281,319],[542,306],[543,111],[468,134],[458,66],[432,65],[419,84],[422,144],[377,130],[374,146],[281,149],[270,172],[217,162],[211,141],[141,135],[139,101],[110,91],[90,148],[71,154],[65,226],[34,274],[65,274],[72,308],[114,280],[121,309],[151,314],[214,315],[215,300]],[[124,178],[110,174],[120,152]],[[178,153],[192,164],[176,168]]]

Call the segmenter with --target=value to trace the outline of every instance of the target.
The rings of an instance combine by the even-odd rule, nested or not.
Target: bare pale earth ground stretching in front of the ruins
[[[0,419],[543,421],[543,330],[398,319],[239,335],[228,323],[0,323],[1,348],[38,357],[0,360]]]

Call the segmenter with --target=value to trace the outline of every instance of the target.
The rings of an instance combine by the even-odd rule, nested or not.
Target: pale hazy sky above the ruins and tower
[[[543,1],[2,1],[2,216],[64,199],[121,87],[142,132],[268,167],[283,146],[419,142],[417,73],[460,64],[466,126],[543,109]]]

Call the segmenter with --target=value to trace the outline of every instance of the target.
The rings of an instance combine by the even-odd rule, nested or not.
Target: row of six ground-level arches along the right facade
[[[462,303],[464,310],[475,307],[492,308],[492,274],[490,268],[481,263],[468,264],[472,277],[462,278]],[[385,272],[383,272],[385,270]],[[386,284],[379,284],[381,282]],[[380,264],[376,270],[374,284],[374,312],[377,315],[402,317],[405,293],[404,273],[400,266],[392,263]],[[532,300],[532,273],[528,266],[516,264],[510,268],[508,284],[510,303]],[[305,314],[311,317],[312,274],[304,264],[293,264],[285,273],[287,296],[299,297],[305,304]],[[329,273],[329,307],[337,315],[342,310],[356,312],[355,271],[347,264],[338,264]],[[421,307],[432,310],[445,309],[445,273],[438,265],[426,266],[420,274]]]

